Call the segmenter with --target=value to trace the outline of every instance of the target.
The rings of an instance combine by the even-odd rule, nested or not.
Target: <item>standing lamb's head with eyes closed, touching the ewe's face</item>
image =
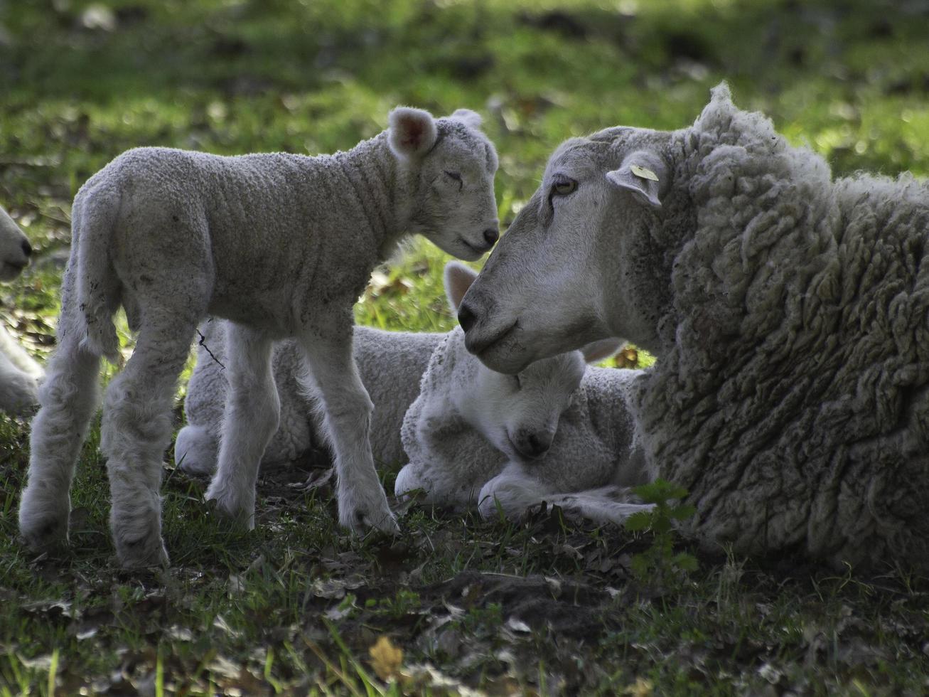
[[[459,109],[434,119],[421,109],[390,112],[390,149],[414,176],[410,231],[440,249],[474,260],[499,237],[493,177],[497,152],[480,116]]]

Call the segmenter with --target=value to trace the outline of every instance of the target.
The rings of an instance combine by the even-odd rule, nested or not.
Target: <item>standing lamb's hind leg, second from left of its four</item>
[[[100,428],[113,541],[128,568],[167,564],[161,534],[164,450],[171,441],[177,376],[198,319],[175,312],[156,317],[161,322],[142,327],[132,358],[107,388]]]

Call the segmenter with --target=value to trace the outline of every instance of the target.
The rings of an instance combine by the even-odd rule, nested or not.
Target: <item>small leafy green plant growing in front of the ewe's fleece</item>
[[[697,509],[680,501],[687,489],[670,481],[655,480],[636,487],[635,493],[643,503],[654,504],[648,511],[635,513],[626,520],[626,530],[652,533],[652,544],[632,559],[635,575],[644,580],[668,582],[678,573],[697,570],[697,558],[688,552],[674,552],[675,520],[690,518]]]

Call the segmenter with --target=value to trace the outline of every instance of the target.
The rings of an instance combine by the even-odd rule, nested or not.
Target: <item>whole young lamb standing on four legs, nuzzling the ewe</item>
[[[67,541],[69,489],[97,403],[99,359],[119,360],[122,306],[137,345],[107,388],[111,531],[124,567],[164,565],[159,488],[177,375],[207,315],[230,320],[229,400],[217,510],[255,524],[255,477],[278,427],[272,341],[300,342],[324,407],[338,473],[340,523],[397,523],[374,471],[372,403],[352,360],[352,306],[374,266],[407,233],[477,259],[496,241],[496,151],[475,112],[435,119],[398,108],[389,127],[347,152],[220,157],[126,151],[78,191],[64,273],[59,348],[40,389],[20,533],[33,549]]]

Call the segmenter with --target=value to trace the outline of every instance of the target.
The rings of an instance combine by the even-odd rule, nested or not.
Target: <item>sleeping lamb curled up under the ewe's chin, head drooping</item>
[[[453,309],[476,275],[449,265]],[[628,491],[646,481],[625,394],[637,371],[584,365],[620,346],[607,338],[504,375],[468,353],[455,327],[433,351],[404,417],[410,462],[394,493],[421,490],[425,504],[478,506],[484,518],[499,510],[520,519],[543,501],[601,521],[647,509]]]

